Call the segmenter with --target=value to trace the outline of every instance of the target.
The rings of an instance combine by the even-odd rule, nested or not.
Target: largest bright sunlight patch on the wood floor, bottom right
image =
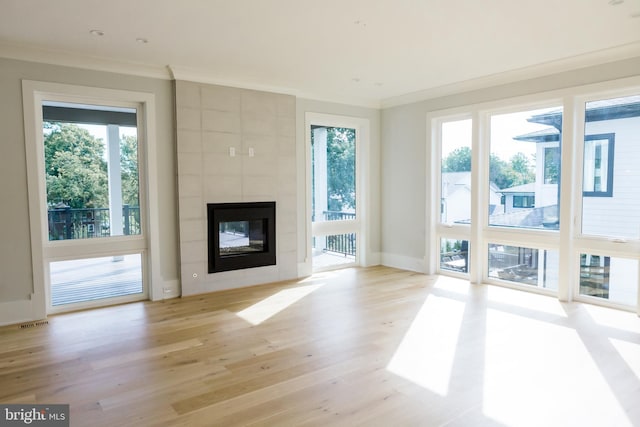
[[[631,425],[572,328],[489,309],[484,357],[487,417],[505,425]]]

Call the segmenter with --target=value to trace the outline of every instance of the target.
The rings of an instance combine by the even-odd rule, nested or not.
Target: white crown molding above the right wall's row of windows
[[[531,65],[503,73],[496,73],[477,79],[470,79],[411,92],[405,95],[394,96],[381,100],[380,108],[390,108],[405,104],[411,104],[429,99],[455,95],[473,90],[486,89],[492,86],[499,86],[519,81],[545,77],[566,71],[572,71],[590,66],[602,65],[609,62],[621,61],[640,57],[640,42],[634,42],[609,49],[602,49],[595,52],[576,55],[557,61],[545,62]]]

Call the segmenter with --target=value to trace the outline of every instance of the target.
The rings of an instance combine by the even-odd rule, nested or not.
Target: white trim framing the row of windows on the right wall
[[[470,227],[469,246],[472,255],[469,257],[469,280],[471,283],[496,283],[500,285],[508,284],[499,283],[489,280],[488,271],[485,264],[487,259],[487,243],[504,243],[523,246],[526,242],[527,247],[559,250],[560,265],[570,265],[571,268],[561,269],[558,278],[557,298],[560,301],[582,300],[579,296],[577,288],[579,281],[577,278],[577,270],[573,266],[578,265],[575,261],[579,258],[579,253],[589,251],[589,248],[597,247],[598,252],[606,251],[606,255],[631,257],[640,259],[640,240],[630,242],[619,242],[612,239],[597,239],[592,237],[580,236],[578,233],[581,228],[581,206],[582,198],[582,156],[583,149],[581,146],[575,147],[574,141],[584,140],[584,129],[580,129],[579,124],[584,122],[584,109],[582,111],[576,106],[584,105],[584,102],[594,101],[598,99],[615,98],[629,95],[631,92],[637,93],[640,90],[640,77],[628,77],[618,80],[594,83],[584,86],[575,86],[559,90],[551,90],[531,95],[518,96],[507,99],[489,101],[485,103],[470,104],[461,107],[432,111],[427,113],[427,171],[431,171],[430,182],[427,185],[426,197],[426,215],[425,227],[426,235],[426,272],[433,274],[435,272],[450,274],[448,271],[437,271],[437,256],[440,251],[440,238],[463,238],[466,233],[460,230],[447,230],[439,224],[439,210],[433,202],[440,200],[438,189],[440,184],[440,138],[439,124],[443,121],[451,121],[455,118],[464,118],[471,116],[473,118],[473,142],[472,142],[472,173],[474,174],[475,186],[472,186],[472,224]],[[485,151],[489,150],[488,144],[480,146],[480,137],[482,140],[489,141],[488,115],[499,114],[510,111],[521,111],[523,109],[535,109],[536,107],[546,107],[553,103],[563,106],[563,144],[562,144],[562,171],[563,176],[560,183],[559,191],[561,194],[573,194],[571,203],[564,203],[560,208],[560,224],[561,228],[557,232],[549,232],[545,230],[521,230],[518,238],[514,239],[513,235],[505,231],[488,230],[486,212],[486,197],[488,193],[488,156]],[[482,164],[479,164],[482,163]],[[580,191],[575,191],[576,186]],[[474,212],[475,209],[475,212]],[[475,217],[473,216],[475,214]],[[545,233],[552,233],[552,238],[546,237]],[[526,238],[526,240],[523,240]],[[495,240],[495,241],[494,241]],[[591,245],[593,241],[599,241],[598,245]],[[622,249],[620,243],[625,243],[627,249]],[[478,247],[480,246],[480,247]],[[634,255],[635,254],[635,255]],[[640,287],[640,268],[638,269],[638,282]],[[573,284],[573,286],[571,286]],[[518,287],[518,289],[527,289]],[[548,293],[540,289],[529,289],[532,292]],[[589,302],[594,302],[589,300]],[[597,301],[599,305],[610,306],[614,308],[622,308],[629,310],[628,306],[608,301]],[[636,311],[640,315],[640,289],[638,292],[638,302]]]

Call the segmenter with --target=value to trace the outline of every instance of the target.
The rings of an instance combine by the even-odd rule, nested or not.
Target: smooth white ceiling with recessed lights
[[[640,56],[640,0],[610,3],[0,0],[0,56],[389,105]]]

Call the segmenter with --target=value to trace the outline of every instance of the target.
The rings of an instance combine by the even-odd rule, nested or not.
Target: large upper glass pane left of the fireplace
[[[70,118],[83,111],[96,120],[109,116],[61,111]],[[135,122],[135,110],[122,114]],[[49,240],[141,234],[137,129],[64,121],[43,127]]]

